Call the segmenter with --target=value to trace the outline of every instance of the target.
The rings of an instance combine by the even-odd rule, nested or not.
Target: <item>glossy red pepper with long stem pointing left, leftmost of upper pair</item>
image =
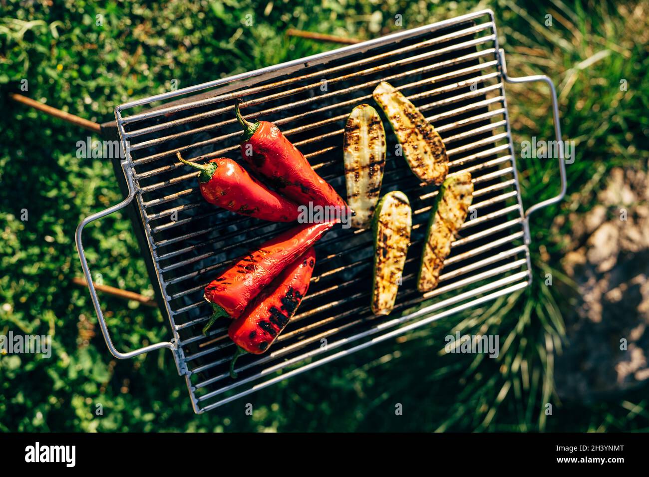
[[[180,153],[176,154],[180,162],[201,171],[199,188],[210,204],[273,222],[297,220],[299,212],[295,202],[265,188],[232,159],[222,157],[207,164],[195,164],[184,160]]]

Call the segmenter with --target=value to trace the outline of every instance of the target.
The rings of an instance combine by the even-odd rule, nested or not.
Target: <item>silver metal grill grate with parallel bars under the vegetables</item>
[[[509,131],[506,79],[493,13],[485,10],[118,106],[117,127],[121,139],[128,141],[123,168],[130,195],[88,217],[77,231],[77,246],[88,279],[81,229],[136,200],[174,339],[117,352],[91,286],[110,350],[119,358],[160,347],[174,350],[178,371],[200,413],[526,287],[531,280],[527,223]],[[223,155],[237,160],[241,133],[234,104],[241,97],[243,114],[278,125],[345,197],[345,120],[354,106],[372,102],[374,86],[382,80],[391,82],[434,123],[447,145],[450,174],[471,171],[474,178],[474,203],[452,245],[439,287],[421,294],[415,284],[438,188],[419,183],[403,158],[388,149],[382,194],[402,190],[413,208],[412,244],[394,312],[373,317],[369,310],[371,233],[336,228],[315,247],[312,284],[297,315],[269,352],[240,358],[239,378],[232,380],[228,363],[234,343],[227,337],[226,323],[217,322],[208,337],[201,334],[211,313],[202,289],[241,253],[292,225],[258,221],[206,204],[196,174],[179,164],[175,154],[180,151],[199,162]],[[165,105],[198,91],[209,95]],[[386,133],[388,147],[394,147],[389,127]]]

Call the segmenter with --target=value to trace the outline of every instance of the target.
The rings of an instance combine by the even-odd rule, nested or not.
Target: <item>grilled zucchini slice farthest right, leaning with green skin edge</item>
[[[467,218],[473,199],[471,174],[463,172],[444,181],[428,221],[428,236],[419,266],[417,289],[431,291],[439,282],[439,273],[450,253],[450,245]]]

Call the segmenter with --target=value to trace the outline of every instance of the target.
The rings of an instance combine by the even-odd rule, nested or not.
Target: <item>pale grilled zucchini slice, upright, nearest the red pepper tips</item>
[[[356,212],[351,226],[369,228],[386,167],[386,132],[369,104],[352,110],[343,138],[347,203]]]

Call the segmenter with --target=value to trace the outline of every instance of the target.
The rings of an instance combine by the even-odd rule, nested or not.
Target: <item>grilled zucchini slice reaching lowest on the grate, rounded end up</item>
[[[395,306],[410,247],[412,211],[406,194],[393,191],[384,195],[374,211],[372,228],[374,276],[371,308],[374,315],[389,315]]]

